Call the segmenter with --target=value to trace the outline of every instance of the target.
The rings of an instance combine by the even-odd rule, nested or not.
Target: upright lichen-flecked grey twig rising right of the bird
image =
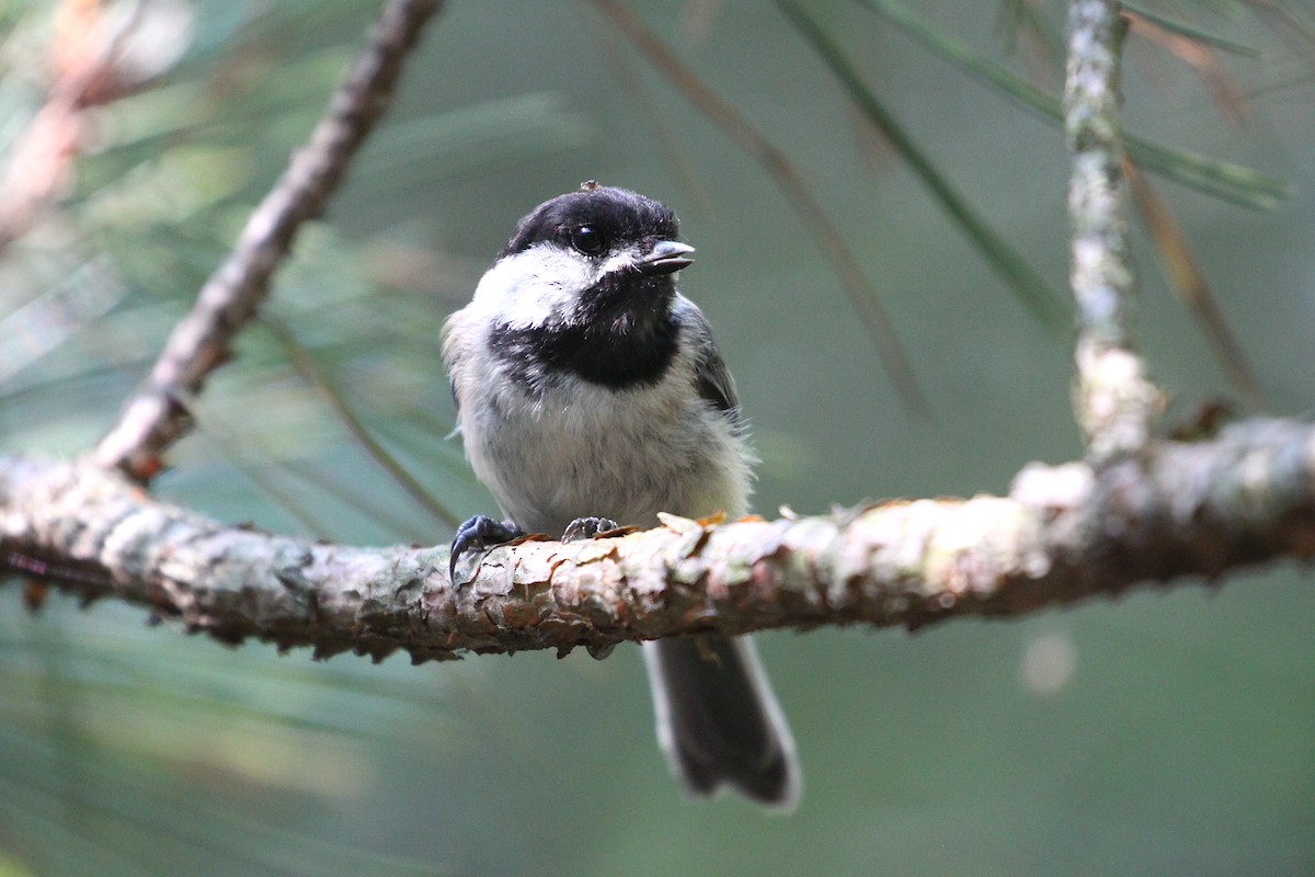
[[[1078,306],[1077,417],[1097,464],[1141,454],[1161,406],[1132,348],[1135,277],[1119,121],[1119,50],[1126,24],[1115,0],[1069,7],[1064,128],[1073,150],[1069,220]]]

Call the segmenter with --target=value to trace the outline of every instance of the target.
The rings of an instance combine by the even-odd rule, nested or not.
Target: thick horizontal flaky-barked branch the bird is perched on
[[[1249,421],[1093,469],[1032,464],[1009,496],[496,548],[455,593],[446,548],[230,527],[88,464],[0,458],[0,569],[116,596],[224,642],[416,661],[679,634],[1015,617],[1139,581],[1315,555],[1315,426]],[[472,571],[473,572],[473,571]]]

